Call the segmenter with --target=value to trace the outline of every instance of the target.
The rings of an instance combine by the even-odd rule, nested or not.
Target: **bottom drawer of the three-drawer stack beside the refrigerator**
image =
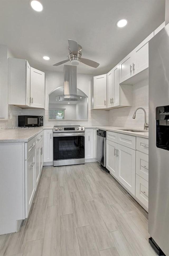
[[[136,174],[135,196],[148,209],[148,181]]]

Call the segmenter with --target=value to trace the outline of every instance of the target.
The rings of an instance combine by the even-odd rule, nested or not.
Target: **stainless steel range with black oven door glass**
[[[85,127],[53,127],[53,166],[85,163]]]

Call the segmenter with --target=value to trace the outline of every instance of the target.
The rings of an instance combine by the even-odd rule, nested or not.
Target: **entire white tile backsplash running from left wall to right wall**
[[[143,129],[144,112],[138,110],[133,119],[134,110],[138,107],[145,109],[148,122],[148,79],[133,85],[133,106],[105,110],[88,110],[88,121],[49,121],[48,110],[44,109],[21,109],[17,106],[8,105],[8,121],[1,121],[0,127],[17,127],[18,115],[44,116],[44,126],[54,125],[82,125],[82,126],[120,126]],[[12,113],[12,119],[11,118]],[[1,129],[0,129],[1,130]]]

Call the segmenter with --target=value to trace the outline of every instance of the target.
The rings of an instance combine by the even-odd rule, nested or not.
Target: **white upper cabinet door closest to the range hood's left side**
[[[45,73],[31,67],[31,107],[45,107]]]

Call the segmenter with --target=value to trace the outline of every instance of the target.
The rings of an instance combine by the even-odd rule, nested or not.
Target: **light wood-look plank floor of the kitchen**
[[[154,256],[147,212],[98,163],[44,167],[28,219],[0,255]]]

